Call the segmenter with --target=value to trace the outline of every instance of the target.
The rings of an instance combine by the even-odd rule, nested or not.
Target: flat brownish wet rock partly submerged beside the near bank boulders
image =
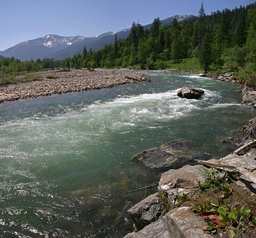
[[[190,141],[178,139],[143,151],[136,155],[134,160],[150,167],[156,173],[162,173],[170,169],[179,169],[186,164],[195,164],[192,148]]]

